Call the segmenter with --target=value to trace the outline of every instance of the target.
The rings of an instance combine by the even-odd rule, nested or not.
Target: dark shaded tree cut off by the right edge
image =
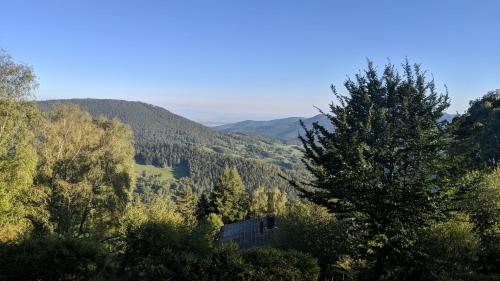
[[[500,163],[500,90],[471,101],[464,115],[453,119],[456,142],[451,152],[466,169]]]

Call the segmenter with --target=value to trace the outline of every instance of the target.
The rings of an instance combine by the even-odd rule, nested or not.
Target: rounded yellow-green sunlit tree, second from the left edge
[[[113,236],[134,182],[130,128],[59,105],[39,129],[36,184],[48,189],[50,226],[66,237]]]

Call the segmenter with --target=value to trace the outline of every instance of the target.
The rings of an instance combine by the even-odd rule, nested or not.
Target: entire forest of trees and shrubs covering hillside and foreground
[[[369,62],[297,147],[37,86],[0,53],[0,280],[500,280],[500,90],[448,121],[420,65]],[[264,215],[268,247],[221,242]]]

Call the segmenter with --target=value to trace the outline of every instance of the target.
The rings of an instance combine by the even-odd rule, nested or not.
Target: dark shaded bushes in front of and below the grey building
[[[126,280],[317,280],[308,255],[278,249],[213,248],[193,230],[149,223],[127,235]]]

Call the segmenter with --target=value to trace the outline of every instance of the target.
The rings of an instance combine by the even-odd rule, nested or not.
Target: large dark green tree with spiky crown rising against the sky
[[[314,124],[300,138],[314,179],[299,190],[366,230],[356,254],[371,264],[373,279],[404,272],[420,257],[413,247],[419,230],[438,217],[446,191],[440,184],[446,134],[438,120],[448,97],[419,65],[403,68],[400,75],[388,64],[380,76],[369,62],[345,82],[349,95],[332,86],[338,103],[326,116],[335,130]]]

